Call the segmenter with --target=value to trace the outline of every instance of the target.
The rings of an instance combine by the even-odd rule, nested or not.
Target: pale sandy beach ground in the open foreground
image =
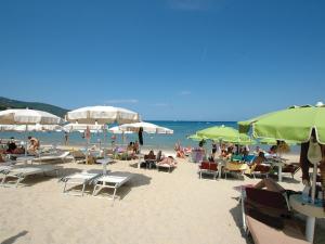
[[[290,156],[297,162],[297,156]],[[112,201],[62,193],[57,178],[30,177],[28,187],[0,188],[0,241],[5,243],[230,244],[247,243],[242,234],[238,192],[233,187],[258,180],[198,179],[197,165],[178,159],[171,174],[138,169],[117,162],[112,171],[135,174]],[[136,163],[134,160],[133,163]],[[100,165],[64,164],[64,175]],[[301,171],[282,185],[301,190]],[[92,190],[89,188],[88,190]],[[324,243],[317,221],[316,243]]]

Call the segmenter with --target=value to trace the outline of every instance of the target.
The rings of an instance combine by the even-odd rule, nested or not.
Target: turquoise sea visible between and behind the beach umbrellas
[[[143,134],[144,147],[145,149],[155,149],[159,147],[161,150],[173,150],[176,142],[180,141],[182,146],[197,146],[197,141],[192,141],[186,139],[187,136],[195,133],[197,130],[202,130],[211,126],[230,126],[233,128],[237,128],[236,121],[167,121],[167,120],[151,120],[150,123],[167,127],[173,130],[173,134]],[[115,125],[112,125],[112,127]],[[42,144],[64,144],[64,132],[28,132],[27,136],[32,136],[39,138]],[[112,143],[112,133],[106,134],[106,139],[104,139],[103,133],[92,133],[91,134],[91,143],[99,144],[99,142],[103,143],[106,140],[107,144]],[[25,140],[25,132],[9,132],[9,131],[0,131],[0,139],[5,139],[14,137],[15,139]],[[125,140],[122,140],[121,134],[116,134],[116,143],[117,144],[126,144],[130,141],[138,140],[138,133],[133,134],[125,134]],[[207,143],[207,147],[210,147],[211,143]],[[80,132],[72,132],[69,133],[69,145],[86,145],[86,140],[82,138],[82,133]],[[255,146],[255,145],[252,145]],[[268,145],[261,145],[263,149],[269,149]],[[298,146],[292,146],[292,152],[298,152]]]

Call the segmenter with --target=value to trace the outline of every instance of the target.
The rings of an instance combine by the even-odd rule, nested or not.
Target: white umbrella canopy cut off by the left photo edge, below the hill
[[[63,119],[44,111],[28,108],[6,110],[0,112],[2,125],[57,125]]]

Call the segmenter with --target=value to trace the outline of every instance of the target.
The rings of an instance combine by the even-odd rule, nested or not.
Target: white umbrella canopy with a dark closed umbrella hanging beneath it
[[[171,129],[168,129],[168,128],[161,127],[161,126],[157,126],[152,123],[145,123],[145,121],[125,124],[125,125],[119,126],[119,129],[122,131],[139,132],[140,128],[143,128],[143,131],[146,133],[168,133],[168,134],[173,133],[173,130],[171,130]]]

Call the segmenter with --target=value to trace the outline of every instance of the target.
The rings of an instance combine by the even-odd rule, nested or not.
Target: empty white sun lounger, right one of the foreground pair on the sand
[[[114,189],[110,200],[115,201],[116,191],[119,187],[128,182],[132,178],[130,172],[110,172],[106,176],[101,176],[94,181],[93,195],[99,194],[99,192],[104,189]]]

